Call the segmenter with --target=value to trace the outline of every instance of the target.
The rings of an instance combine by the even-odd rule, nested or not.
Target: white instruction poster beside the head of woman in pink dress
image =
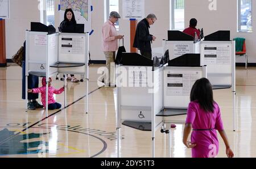
[[[201,71],[168,71],[166,81],[167,96],[189,96],[191,88],[201,77]]]

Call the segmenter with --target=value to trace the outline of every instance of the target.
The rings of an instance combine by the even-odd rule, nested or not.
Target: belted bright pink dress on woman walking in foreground
[[[186,123],[192,124],[191,142],[196,143],[192,148],[193,158],[216,157],[218,154],[217,130],[224,130],[220,108],[214,103],[214,112],[205,112],[198,102],[188,105]]]

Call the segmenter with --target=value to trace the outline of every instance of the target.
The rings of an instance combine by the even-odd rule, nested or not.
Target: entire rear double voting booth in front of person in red
[[[217,31],[195,42],[183,32],[168,31],[163,49],[169,49],[170,60],[180,54],[200,53],[200,66],[207,65],[207,77],[213,90],[232,88],[233,130],[236,130],[236,43],[230,40],[230,31]]]

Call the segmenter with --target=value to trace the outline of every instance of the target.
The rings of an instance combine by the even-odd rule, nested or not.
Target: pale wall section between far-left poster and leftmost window
[[[38,1],[11,0],[10,19],[6,19],[6,58],[10,59],[25,40],[25,31],[30,29],[30,22],[40,22]]]

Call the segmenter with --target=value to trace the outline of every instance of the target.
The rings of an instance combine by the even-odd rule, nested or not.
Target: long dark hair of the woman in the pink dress
[[[190,93],[190,101],[199,102],[201,108],[206,112],[212,112],[214,109],[214,100],[212,84],[207,78],[198,79],[193,85]]]

